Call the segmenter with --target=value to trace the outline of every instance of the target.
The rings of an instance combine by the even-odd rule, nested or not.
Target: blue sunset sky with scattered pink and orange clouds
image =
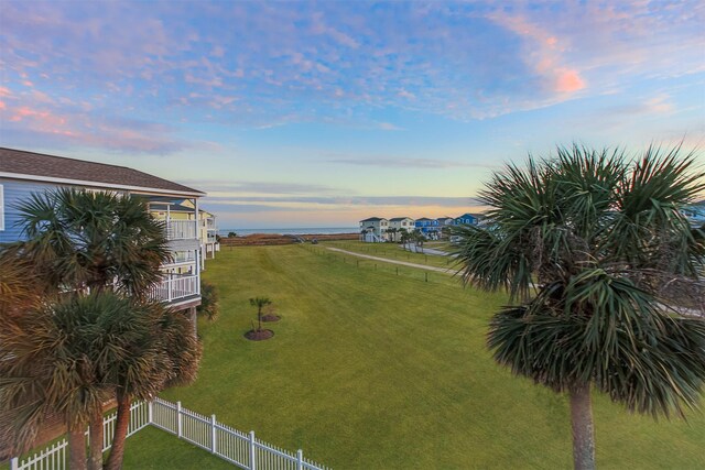
[[[705,3],[0,2],[0,145],[208,193],[220,228],[481,209],[556,145],[701,149]]]

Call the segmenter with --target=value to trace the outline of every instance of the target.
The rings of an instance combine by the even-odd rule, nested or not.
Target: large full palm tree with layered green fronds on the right
[[[495,360],[568,393],[575,468],[595,467],[590,387],[666,417],[701,397],[705,320],[679,315],[669,285],[702,275],[705,247],[679,209],[704,188],[680,147],[560,147],[495,174],[488,229],[457,229],[465,283],[514,303],[490,323]]]

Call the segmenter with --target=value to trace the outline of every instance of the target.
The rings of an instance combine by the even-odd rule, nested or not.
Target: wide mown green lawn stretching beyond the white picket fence
[[[301,245],[224,251],[205,277],[221,316],[199,324],[197,382],[165,398],[339,469],[572,466],[565,397],[513,378],[485,347],[503,296]],[[261,295],[282,320],[250,342],[248,298]],[[705,468],[701,414],[655,423],[595,402],[600,468]],[[225,467],[156,429],[128,440],[128,469]]]

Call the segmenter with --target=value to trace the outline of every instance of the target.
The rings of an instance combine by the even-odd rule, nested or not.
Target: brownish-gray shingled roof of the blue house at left
[[[98,183],[97,186],[102,183],[118,187],[138,187],[205,196],[205,193],[197,189],[128,168],[127,166],[66,159],[15,149],[0,147],[0,173]]]

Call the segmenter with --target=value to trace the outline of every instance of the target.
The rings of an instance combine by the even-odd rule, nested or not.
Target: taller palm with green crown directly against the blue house
[[[41,266],[50,293],[112,291],[144,299],[171,259],[163,223],[137,196],[58,188],[32,195],[19,212],[26,241],[3,252]],[[94,442],[102,441],[101,413],[95,413],[90,431]],[[100,468],[101,444],[90,452],[91,467]]]

